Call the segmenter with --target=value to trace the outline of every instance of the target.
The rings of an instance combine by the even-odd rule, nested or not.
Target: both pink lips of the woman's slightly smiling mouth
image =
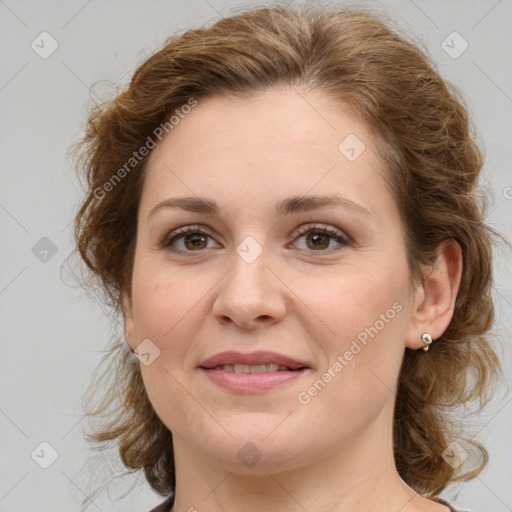
[[[268,363],[287,366],[289,370],[266,373],[234,373],[218,368],[225,364],[261,365]],[[252,352],[250,354],[242,354],[235,351],[222,352],[203,361],[199,368],[218,386],[242,394],[267,391],[286,382],[292,382],[309,369],[304,362],[276,352],[266,351]]]

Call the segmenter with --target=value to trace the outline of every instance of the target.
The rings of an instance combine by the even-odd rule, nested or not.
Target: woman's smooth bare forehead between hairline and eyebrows
[[[169,195],[238,198],[248,208],[309,191],[371,206],[386,194],[373,146],[365,124],[320,92],[198,99],[152,151],[141,210]]]

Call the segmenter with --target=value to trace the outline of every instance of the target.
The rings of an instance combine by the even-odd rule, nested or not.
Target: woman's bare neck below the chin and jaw
[[[391,428],[375,422],[364,435],[315,460],[283,469],[262,459],[248,471],[206,458],[176,436],[173,511],[445,511],[400,478],[392,446]]]

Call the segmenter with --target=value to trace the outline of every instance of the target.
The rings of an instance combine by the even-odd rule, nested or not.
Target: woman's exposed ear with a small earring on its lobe
[[[423,333],[436,340],[447,329],[455,309],[462,264],[462,250],[455,240],[439,246],[435,266],[425,270],[423,281],[414,291],[412,318],[405,340],[408,348],[423,347]]]

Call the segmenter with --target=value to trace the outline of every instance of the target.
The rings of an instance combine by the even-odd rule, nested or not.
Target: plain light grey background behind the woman
[[[68,286],[72,281],[65,272],[63,279],[61,271],[72,248],[70,223],[81,193],[66,152],[84,126],[87,108],[98,97],[115,93],[116,84],[126,83],[135,65],[171,33],[254,4],[0,0],[2,512],[79,510],[88,483],[87,461],[98,485],[110,478],[108,467],[114,467],[109,459],[101,464],[91,460],[82,435],[86,422],[80,399],[119,326],[79,289]],[[460,86],[486,151],[484,184],[494,195],[488,222],[510,237],[512,2],[352,5],[376,6],[393,15],[424,42],[443,76]],[[52,42],[39,36],[43,31],[58,43],[45,59],[40,53],[51,49]],[[461,40],[451,44],[451,56],[442,47],[453,31],[469,44],[457,58],[453,53],[462,48]],[[31,47],[34,40],[39,53]],[[496,259],[497,343],[502,344],[507,375],[512,366],[509,261],[510,250],[502,246]],[[443,493],[461,508],[512,510],[511,400],[502,386],[485,414],[471,420],[490,452],[490,463],[470,483]],[[47,469],[35,462],[51,462],[52,452],[41,442],[58,453]],[[131,485],[134,491],[114,502]],[[129,476],[114,483],[110,496],[95,499],[89,510],[144,511],[160,501],[141,476]]]

